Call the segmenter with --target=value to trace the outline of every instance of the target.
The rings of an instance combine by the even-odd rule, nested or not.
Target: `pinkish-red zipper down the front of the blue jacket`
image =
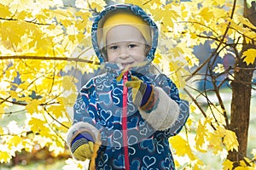
[[[125,87],[125,82],[128,81],[128,71],[125,72],[123,77],[123,116],[122,116],[122,128],[123,128],[123,144],[125,151],[125,170],[130,170],[129,152],[128,152],[128,135],[127,135],[127,102],[128,102],[128,88]]]

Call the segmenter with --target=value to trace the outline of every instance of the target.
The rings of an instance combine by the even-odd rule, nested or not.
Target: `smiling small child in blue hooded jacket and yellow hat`
[[[175,169],[168,138],[185,124],[188,105],[164,74],[150,72],[158,29],[142,8],[105,8],[92,26],[104,72],[80,90],[67,144],[94,169]]]

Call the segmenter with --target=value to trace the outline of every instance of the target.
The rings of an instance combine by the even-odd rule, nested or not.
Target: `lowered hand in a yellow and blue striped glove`
[[[79,133],[71,143],[73,156],[79,161],[90,159],[94,151],[94,140],[90,133]]]

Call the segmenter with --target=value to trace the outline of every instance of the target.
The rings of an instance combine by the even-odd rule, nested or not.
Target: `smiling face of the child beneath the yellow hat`
[[[125,67],[146,58],[145,40],[134,26],[115,26],[106,38],[108,62]]]

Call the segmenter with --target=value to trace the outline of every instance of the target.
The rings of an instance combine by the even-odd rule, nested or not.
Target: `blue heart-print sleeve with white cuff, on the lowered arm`
[[[99,127],[96,124],[97,111],[95,93],[93,93],[94,83],[91,79],[80,91],[75,104],[73,105],[73,126],[67,131],[67,144],[70,146],[73,139],[79,133],[90,133],[94,141],[98,138]]]

